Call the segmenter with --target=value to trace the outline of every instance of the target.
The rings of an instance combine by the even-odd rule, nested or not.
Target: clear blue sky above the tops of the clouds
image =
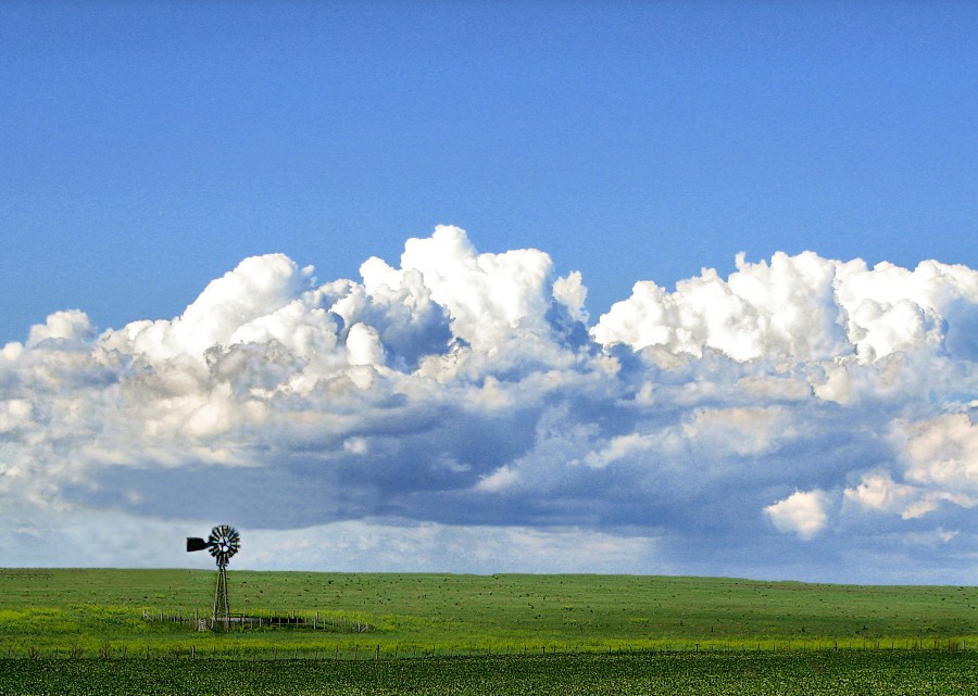
[[[974,265],[969,3],[4,3],[0,340],[336,277],[437,224],[639,279]]]

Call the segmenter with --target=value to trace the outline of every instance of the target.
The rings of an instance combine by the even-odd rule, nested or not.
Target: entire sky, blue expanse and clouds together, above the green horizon
[[[0,565],[974,584],[976,28],[0,4]]]

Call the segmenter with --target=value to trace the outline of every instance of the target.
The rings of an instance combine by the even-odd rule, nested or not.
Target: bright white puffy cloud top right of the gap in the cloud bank
[[[892,264],[869,269],[812,252],[777,253],[769,264],[739,255],[727,280],[705,269],[672,293],[636,283],[591,333],[605,346],[663,346],[697,357],[713,349],[738,362],[856,355],[873,363],[940,343],[941,312],[958,300],[978,302],[978,271],[937,262],[913,271]]]

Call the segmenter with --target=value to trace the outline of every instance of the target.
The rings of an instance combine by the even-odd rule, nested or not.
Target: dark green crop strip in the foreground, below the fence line
[[[379,661],[7,660],[0,695],[967,696],[978,653],[660,653]]]

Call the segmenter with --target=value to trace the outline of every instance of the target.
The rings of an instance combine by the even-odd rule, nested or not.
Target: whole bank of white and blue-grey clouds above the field
[[[252,567],[974,578],[971,268],[740,255],[593,324],[580,274],[455,227],[315,273],[3,346],[5,562],[186,565],[166,537],[226,520]]]

